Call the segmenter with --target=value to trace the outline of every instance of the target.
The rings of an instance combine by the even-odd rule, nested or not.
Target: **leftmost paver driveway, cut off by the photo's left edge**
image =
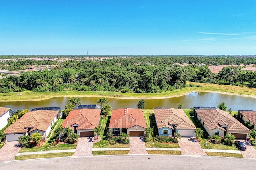
[[[14,160],[16,154],[20,151],[21,146],[17,141],[6,142],[0,149],[0,162]]]

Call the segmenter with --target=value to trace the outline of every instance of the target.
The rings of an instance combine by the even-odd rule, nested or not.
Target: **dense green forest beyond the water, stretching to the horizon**
[[[195,63],[181,67],[174,63]],[[0,92],[33,91],[118,91],[158,93],[186,86],[187,81],[256,87],[256,72],[242,67],[224,67],[215,74],[197,64],[256,64],[256,58],[235,57],[129,57],[104,60],[32,61],[0,63],[0,69],[17,71],[25,65],[58,65],[56,69],[24,72],[0,79]],[[7,64],[7,65],[6,65]]]

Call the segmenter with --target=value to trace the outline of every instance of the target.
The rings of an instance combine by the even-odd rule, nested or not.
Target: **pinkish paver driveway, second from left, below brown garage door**
[[[73,156],[92,156],[93,140],[92,137],[79,138]]]

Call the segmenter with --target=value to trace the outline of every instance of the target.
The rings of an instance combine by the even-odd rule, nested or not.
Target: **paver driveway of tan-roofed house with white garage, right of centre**
[[[182,138],[179,140],[182,155],[201,155],[207,156],[197,140],[193,138]]]

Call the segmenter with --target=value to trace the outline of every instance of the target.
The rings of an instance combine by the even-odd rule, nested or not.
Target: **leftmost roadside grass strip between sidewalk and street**
[[[23,155],[23,156],[15,156],[15,160],[65,157],[65,156],[72,156],[74,153],[75,153],[75,152],[52,153],[52,154],[36,154],[36,155]]]

